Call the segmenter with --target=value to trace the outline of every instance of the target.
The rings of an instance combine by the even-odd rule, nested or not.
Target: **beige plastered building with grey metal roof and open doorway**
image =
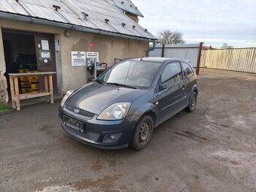
[[[72,52],[96,52],[108,66],[143,56],[156,38],[139,17],[130,0],[1,0],[0,102],[8,101],[8,73],[19,69],[57,72],[54,90],[62,95],[88,78],[87,66],[72,66]]]

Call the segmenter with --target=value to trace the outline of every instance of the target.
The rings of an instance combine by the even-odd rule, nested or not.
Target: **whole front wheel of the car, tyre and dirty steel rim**
[[[131,147],[138,151],[147,147],[147,145],[151,142],[153,128],[154,123],[152,118],[148,115],[145,115],[145,117],[139,120],[139,123],[136,126]]]

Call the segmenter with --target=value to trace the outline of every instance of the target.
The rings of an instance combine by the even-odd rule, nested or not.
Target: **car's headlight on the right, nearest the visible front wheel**
[[[99,114],[98,120],[121,120],[130,109],[130,102],[120,102],[106,108]]]

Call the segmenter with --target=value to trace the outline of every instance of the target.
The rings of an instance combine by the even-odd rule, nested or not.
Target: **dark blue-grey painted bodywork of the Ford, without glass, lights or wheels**
[[[125,59],[129,60],[129,59]],[[133,89],[111,84],[100,84],[93,82],[86,84],[84,87],[75,90],[66,100],[64,107],[59,110],[59,117],[62,129],[87,145],[92,145],[98,148],[126,148],[133,141],[133,134],[139,120],[150,114],[154,116],[154,126],[160,125],[168,120],[178,111],[187,107],[190,101],[190,95],[197,89],[197,75],[186,75],[183,67],[181,81],[160,90],[160,77],[163,69],[170,62],[186,62],[183,59],[166,59],[166,58],[143,58],[131,59],[142,60],[145,62],[161,62],[161,65],[148,89]],[[116,64],[118,65],[118,64]],[[115,65],[115,66],[116,66]],[[181,65],[182,66],[182,65]],[[109,70],[109,69],[108,69]],[[119,102],[130,102],[130,110],[123,120],[98,120],[99,114],[110,105]],[[67,109],[66,105],[72,105],[74,108],[93,113],[93,117],[87,118],[75,111]],[[84,123],[84,133],[72,129],[63,122],[63,116],[71,117],[74,120],[79,120]],[[105,143],[105,137],[111,134],[119,134],[120,138],[116,142]],[[119,136],[118,135],[118,136]]]

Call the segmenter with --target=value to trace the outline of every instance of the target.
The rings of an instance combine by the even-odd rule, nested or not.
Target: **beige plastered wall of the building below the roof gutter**
[[[139,57],[145,55],[148,50],[147,41],[129,40],[106,35],[97,35],[88,32],[69,31],[69,37],[65,35],[66,29],[53,26],[44,26],[35,23],[25,23],[14,20],[0,19],[0,28],[22,30],[26,32],[39,32],[53,34],[55,40],[60,41],[61,50],[56,52],[56,71],[59,94],[62,95],[67,90],[75,89],[85,84],[87,81],[87,69],[84,66],[71,65],[71,51],[96,51],[99,52],[99,62],[107,62],[109,66],[114,63],[114,59],[124,59],[127,57]],[[87,44],[93,42],[93,47]],[[4,79],[5,54],[0,33],[0,78]],[[1,87],[6,90],[6,84],[1,83]],[[6,91],[5,91],[6,96]],[[5,100],[6,97],[2,100]]]

